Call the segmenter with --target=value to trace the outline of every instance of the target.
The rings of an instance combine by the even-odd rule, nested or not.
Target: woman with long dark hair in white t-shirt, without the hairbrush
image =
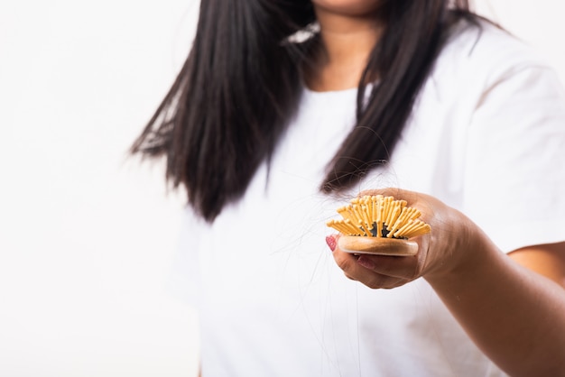
[[[565,371],[565,97],[449,3],[201,2],[133,152],[187,189],[203,375]],[[337,234],[324,252],[366,189],[421,210],[415,257],[357,258]]]

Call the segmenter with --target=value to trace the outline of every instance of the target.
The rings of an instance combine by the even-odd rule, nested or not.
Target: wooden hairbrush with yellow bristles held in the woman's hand
[[[406,204],[382,195],[353,198],[350,205],[337,209],[343,218],[326,225],[342,234],[338,246],[344,252],[414,255],[418,244],[409,238],[430,233],[431,226],[418,219],[418,209]]]

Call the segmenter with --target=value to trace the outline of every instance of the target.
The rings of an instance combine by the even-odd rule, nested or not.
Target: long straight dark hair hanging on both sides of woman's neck
[[[359,83],[357,124],[329,161],[326,193],[386,163],[451,26],[477,24],[468,0],[384,0],[381,9],[386,26]],[[301,67],[320,41],[289,36],[314,21],[306,0],[201,0],[189,57],[131,152],[166,156],[166,179],[208,222],[243,196],[295,114]]]

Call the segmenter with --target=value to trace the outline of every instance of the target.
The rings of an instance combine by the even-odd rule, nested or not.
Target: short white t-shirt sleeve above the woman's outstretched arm
[[[464,212],[505,253],[565,240],[565,95],[555,72],[493,79],[468,128]]]

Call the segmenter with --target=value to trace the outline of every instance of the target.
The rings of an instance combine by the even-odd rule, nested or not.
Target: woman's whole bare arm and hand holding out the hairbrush
[[[414,256],[356,256],[339,250],[337,235],[329,236],[347,277],[371,288],[423,277],[505,372],[565,375],[565,243],[533,245],[508,256],[468,217],[435,198],[401,189],[362,193],[377,194],[418,208],[431,233],[413,238],[419,245]]]

